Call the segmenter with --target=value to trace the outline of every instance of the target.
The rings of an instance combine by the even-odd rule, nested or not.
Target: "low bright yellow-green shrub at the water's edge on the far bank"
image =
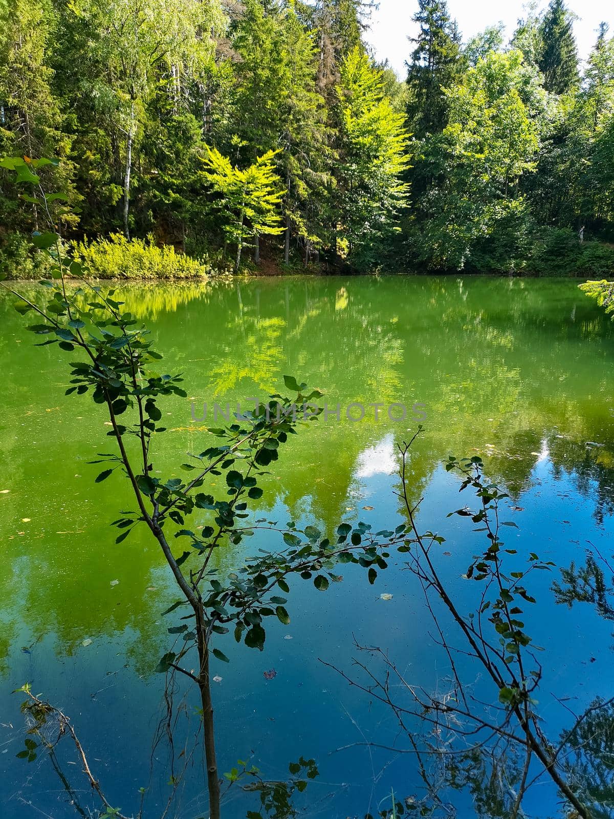
[[[151,236],[144,241],[111,233],[108,239],[78,242],[74,259],[98,278],[205,278],[211,273],[210,265],[176,253],[172,245],[158,247]]]

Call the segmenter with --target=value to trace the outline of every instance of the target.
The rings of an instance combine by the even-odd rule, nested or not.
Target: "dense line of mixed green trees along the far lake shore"
[[[614,38],[562,0],[463,44],[418,0],[407,77],[361,0],[0,0],[0,154],[54,156],[67,238],[336,269],[605,274]],[[73,208],[74,210],[74,208]],[[5,256],[38,227],[0,180]],[[264,238],[264,240],[263,240]],[[246,253],[243,253],[245,259]]]

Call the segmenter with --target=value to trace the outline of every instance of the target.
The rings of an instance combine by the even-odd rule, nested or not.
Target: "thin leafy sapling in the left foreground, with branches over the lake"
[[[279,448],[296,434],[300,424],[317,420],[318,410],[313,407],[307,422],[291,411],[294,405],[307,405],[322,396],[292,376],[284,378],[291,396],[269,396],[255,409],[237,414],[228,427],[210,429],[214,443],[188,455],[180,464],[185,478],[156,477],[156,439],[166,431],[161,425],[159,402],[167,396],[186,398],[183,378],[179,373],[160,374],[162,355],[154,349],[149,330],[124,310],[115,290],[105,291],[90,282],[87,269],[65,251],[52,207],[59,214],[69,207],[60,205],[65,201],[63,194],[45,192],[41,181],[41,170],[56,164],[28,157],[0,160],[0,166],[15,175],[16,183],[29,190],[23,198],[47,220],[47,230],[34,233],[32,242],[50,261],[50,278],[41,282],[46,293],[42,306],[8,289],[18,297],[16,310],[20,314],[35,315],[37,320],[28,329],[42,339],[39,346],[56,344],[65,352],[71,376],[66,395],[88,396],[106,410],[111,423],[107,436],[115,449],[90,462],[101,465],[95,482],[123,476],[137,507],[134,512],[121,513],[111,524],[117,529],[115,543],[125,541],[135,527],[147,527],[179,592],[178,600],[164,614],[180,607],[188,609],[187,617],[169,627],[169,633],[180,638],[182,645],[169,649],[159,659],[156,671],[178,672],[199,690],[210,817],[219,819],[211,654],[228,662],[219,645],[231,630],[237,642],[263,650],[268,618],[284,625],[290,622],[287,598],[282,595],[289,593],[287,581],[292,576],[313,581],[317,590],[325,591],[330,581],[341,580],[333,572],[336,563],[354,562],[368,569],[372,583],[377,577],[376,566],[386,568],[386,538],[392,537],[394,543],[394,533],[374,536],[367,524],[351,527],[344,523],[331,542],[316,527],[300,529],[294,522],[283,529],[265,518],[255,526],[246,525],[248,505],[263,494],[260,483],[269,465],[278,459]],[[76,287],[72,280],[76,280]],[[207,490],[205,484],[211,477],[218,479],[216,488]],[[208,514],[209,523],[190,528],[190,518],[203,513]],[[223,577],[213,568],[215,550],[240,544],[256,527],[277,532],[284,548],[248,558],[236,572]],[[381,537],[384,541],[378,539]],[[181,554],[176,554],[174,547],[177,539],[183,544]],[[196,663],[190,663],[193,653]],[[51,708],[49,704],[46,707]],[[106,810],[119,810],[108,802],[105,805]]]

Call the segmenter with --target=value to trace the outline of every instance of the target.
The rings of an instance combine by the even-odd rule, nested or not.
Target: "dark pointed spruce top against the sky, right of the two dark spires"
[[[554,94],[571,91],[578,84],[578,52],[573,16],[563,0],[550,0],[540,25],[540,56],[544,88]]]

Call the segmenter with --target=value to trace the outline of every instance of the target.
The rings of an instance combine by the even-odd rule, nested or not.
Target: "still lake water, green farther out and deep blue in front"
[[[184,454],[210,445],[205,428],[219,422],[192,420],[204,403],[209,412],[214,402],[248,408],[252,396],[278,391],[292,374],[321,389],[329,407],[338,402],[341,419],[309,423],[285,447],[255,518],[295,519],[331,533],[342,520],[376,530],[402,523],[396,447],[415,430],[411,407],[420,404],[425,432],[413,448],[409,488],[424,497],[420,525],[447,538],[440,571],[467,609],[479,590],[460,576],[481,541],[471,525],[445,517],[462,505],[458,478],[442,467],[450,454],[482,455],[489,476],[507,488],[518,527],[507,542],[519,556],[536,551],[568,566],[584,563],[586,550],[612,554],[614,324],[577,284],[330,277],[122,286],[127,309],[151,326],[165,352],[165,372],[182,372],[188,394],[162,407],[169,432],[156,437],[156,468],[181,476]],[[39,297],[33,285],[24,289]],[[70,715],[112,803],[136,811],[138,788],[146,787],[144,815],[157,817],[171,767],[167,744],[152,751],[165,714],[164,675],[153,667],[173,639],[166,631],[173,622],[160,617],[175,600],[173,584],[146,532],[115,545],[109,523],[132,508],[128,487],[119,475],[95,485],[99,468],[87,464],[112,448],[103,410],[87,396],[65,397],[74,355],[34,347],[11,301],[0,295],[0,816],[65,819],[79,815],[74,803],[85,815],[96,804],[67,743],[58,764],[72,794],[45,754],[29,763],[16,758],[23,697],[11,690],[30,681]],[[374,409],[362,421],[344,418],[348,405],[373,403],[384,406],[377,421]],[[387,417],[392,404],[408,408],[405,421]],[[231,572],[244,551],[279,546],[257,533],[239,551],[220,550],[218,568]],[[373,586],[362,570],[345,566],[343,582],[326,594],[295,582],[291,624],[269,628],[263,653],[232,636],[220,640],[231,658],[213,668],[221,678],[214,688],[221,771],[249,758],[267,778],[282,779],[288,762],[315,758],[320,776],[300,801],[309,816],[376,815],[391,788],[401,798],[421,794],[411,754],[360,744],[404,747],[394,715],[318,662],[350,673],[354,636],[389,650],[411,681],[429,690],[445,684],[422,593],[402,557]],[[535,581],[530,628],[545,649],[540,701],[556,738],[571,716],[551,692],[572,699],[576,712],[596,695],[611,696],[614,657],[612,622],[589,604],[557,605],[550,584],[558,570],[547,574]],[[476,679],[469,661],[463,672]],[[194,693],[178,681],[176,707],[186,692],[184,711],[195,726]],[[183,716],[178,732],[189,743]],[[169,816],[207,816],[197,751],[190,764]],[[473,815],[469,794],[454,799],[460,816]],[[244,817],[255,809],[251,800],[230,790],[225,816]],[[557,804],[544,783],[531,791],[527,810],[550,817]]]

